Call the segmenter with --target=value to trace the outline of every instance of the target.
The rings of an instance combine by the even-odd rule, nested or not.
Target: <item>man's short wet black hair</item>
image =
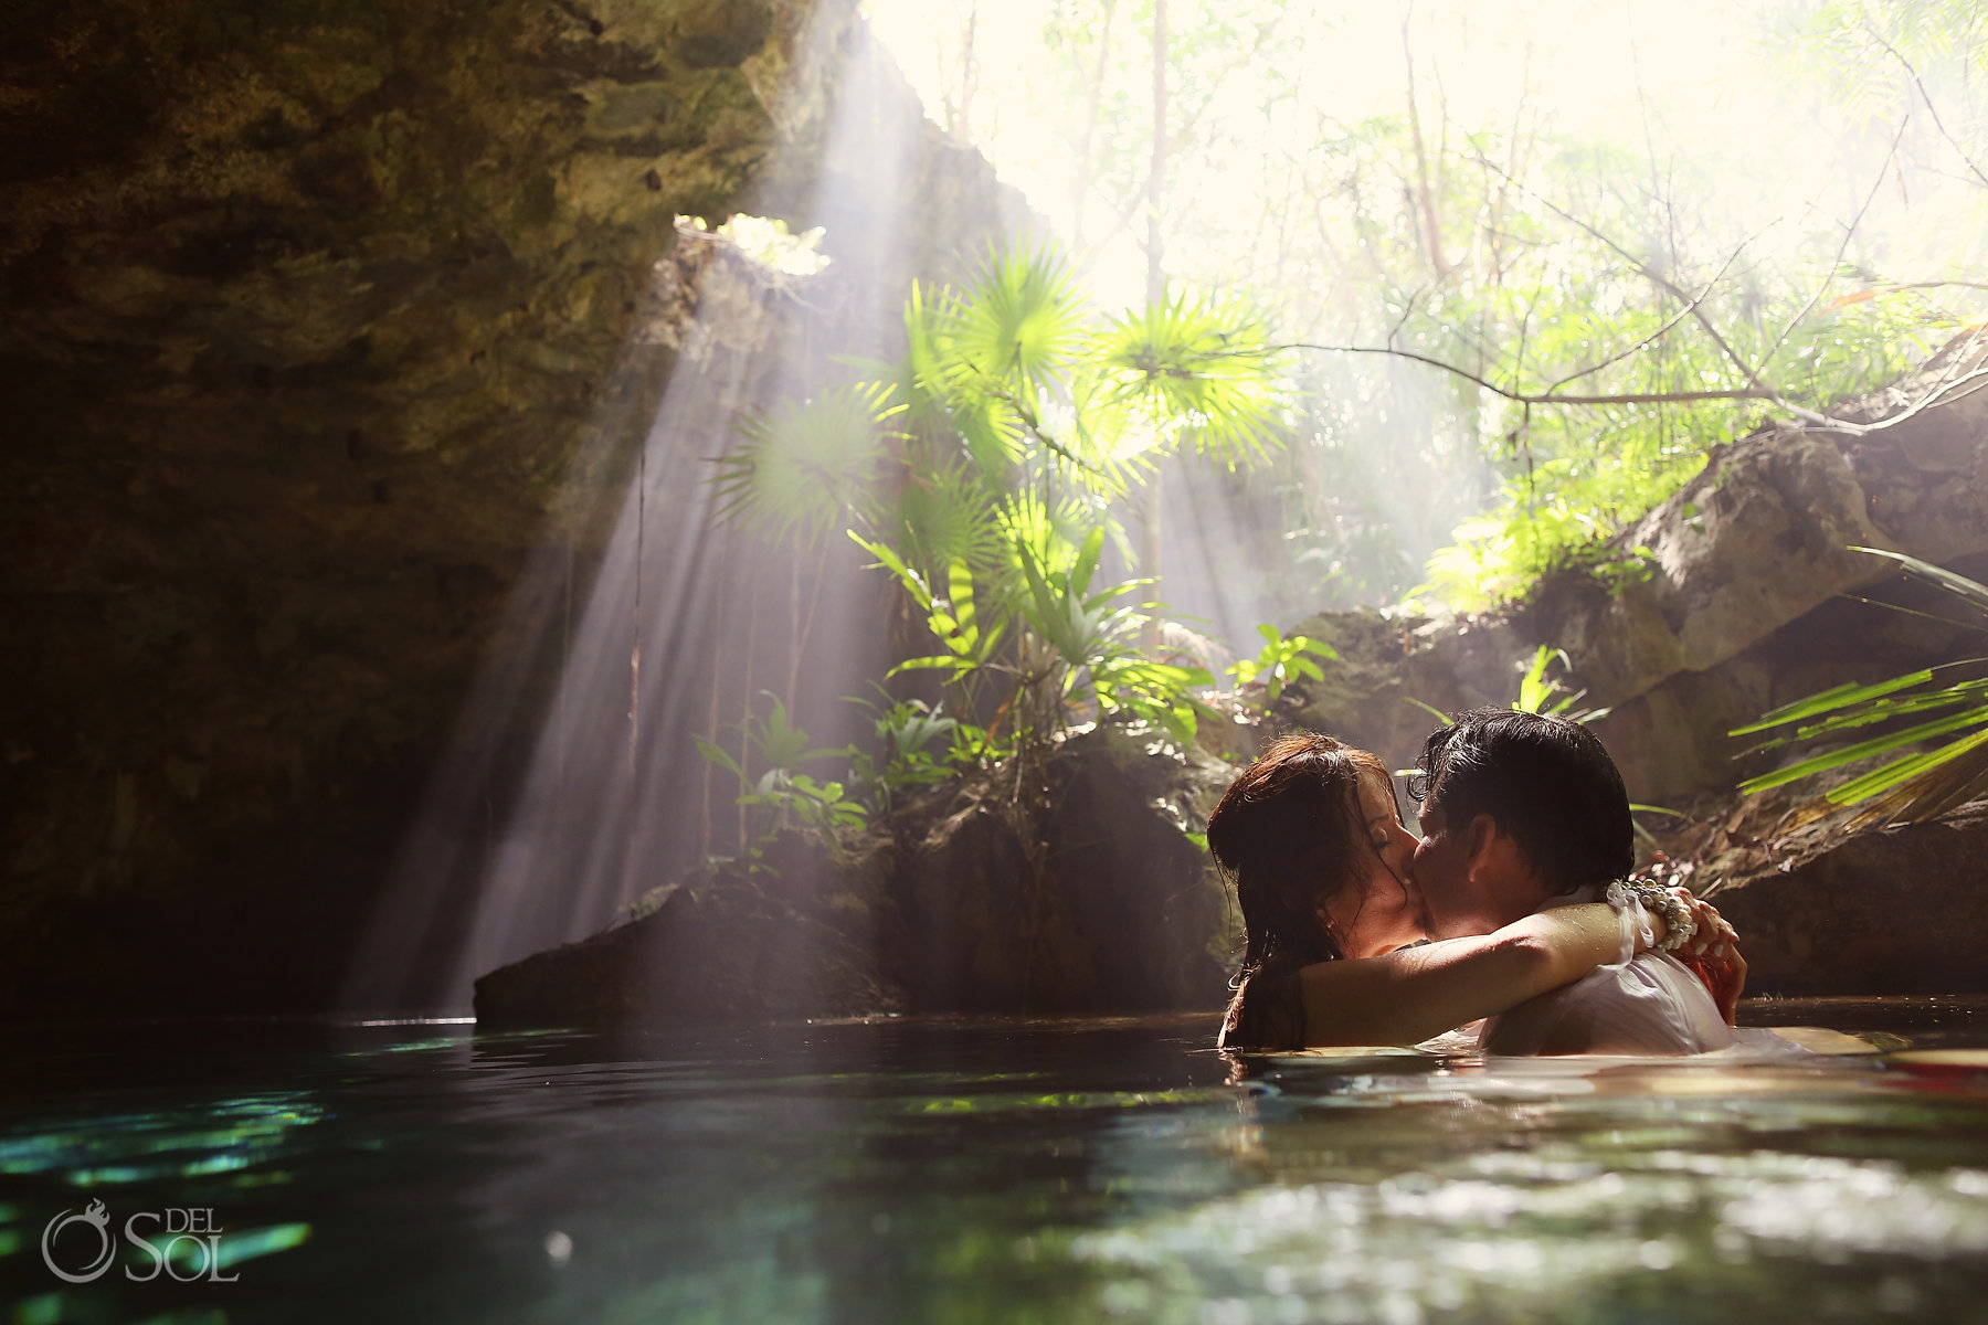
[[[1408,795],[1461,832],[1489,814],[1555,892],[1636,868],[1622,775],[1600,739],[1565,717],[1469,709],[1421,743]]]

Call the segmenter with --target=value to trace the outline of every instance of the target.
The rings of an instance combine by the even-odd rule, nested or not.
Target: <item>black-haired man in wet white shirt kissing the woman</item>
[[[1435,938],[1491,934],[1549,906],[1600,900],[1636,864],[1622,775],[1586,727],[1473,709],[1421,747],[1415,882]],[[1670,954],[1646,952],[1491,1017],[1489,1053],[1698,1053],[1732,1043],[1745,967],[1722,1001]]]

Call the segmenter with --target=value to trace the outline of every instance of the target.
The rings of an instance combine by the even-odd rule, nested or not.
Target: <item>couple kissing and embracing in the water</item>
[[[1274,741],[1209,816],[1246,948],[1225,1049],[1485,1053],[1726,1049],[1738,936],[1684,888],[1632,878],[1622,775],[1586,727],[1461,713],[1423,743],[1415,836],[1372,753]],[[1481,1025],[1473,1025],[1481,1023]]]

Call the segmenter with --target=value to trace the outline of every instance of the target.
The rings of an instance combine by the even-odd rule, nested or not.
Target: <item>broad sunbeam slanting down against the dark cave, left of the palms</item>
[[[680,224],[646,306],[644,334],[678,348],[654,423],[632,461],[582,457],[569,499],[624,465],[612,534],[579,568],[571,542],[551,542],[521,582],[505,638],[537,644],[489,667],[465,705],[352,963],[348,1007],[461,1007],[479,973],[598,930],[704,850],[742,846],[714,824],[732,818],[736,789],[712,789],[694,737],[734,729],[761,691],[835,721],[839,697],[887,662],[861,554],[746,534],[720,518],[712,485],[742,413],[817,389],[839,362],[897,354],[907,282],[1000,224],[976,215],[950,236],[907,232],[934,213],[909,193],[932,179],[920,153],[934,147],[918,141],[889,54],[833,18],[809,24],[797,54],[833,99],[775,151],[761,203],[819,226],[827,262],[819,276],[813,262],[781,270],[763,222],[744,244]],[[545,693],[533,667],[551,660]]]

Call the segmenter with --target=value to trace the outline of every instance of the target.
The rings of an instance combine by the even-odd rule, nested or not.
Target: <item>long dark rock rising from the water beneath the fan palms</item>
[[[489,1025],[1217,1007],[1231,922],[1187,834],[1233,769],[1099,727],[835,840],[787,832],[477,981]]]

